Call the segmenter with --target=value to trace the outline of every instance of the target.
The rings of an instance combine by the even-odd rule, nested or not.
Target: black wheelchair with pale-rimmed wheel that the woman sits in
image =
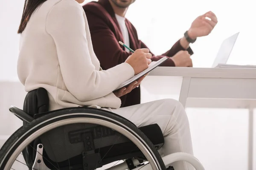
[[[49,111],[44,88],[26,95],[23,110],[11,106],[9,111],[23,126],[1,148],[0,170],[21,170],[21,165],[29,170],[174,170],[168,166],[174,161],[204,170],[187,153],[161,158],[157,150],[164,138],[157,124],[137,127],[115,113],[88,107]]]

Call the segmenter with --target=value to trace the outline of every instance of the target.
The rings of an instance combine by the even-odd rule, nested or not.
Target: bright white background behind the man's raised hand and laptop
[[[196,17],[211,10],[218,17],[218,25],[209,36],[198,38],[191,45],[194,67],[210,67],[221,42],[238,31],[228,63],[256,65],[256,54],[252,52],[256,38],[253,4],[252,0],[137,0],[127,17],[151,51],[161,54],[183,36]]]

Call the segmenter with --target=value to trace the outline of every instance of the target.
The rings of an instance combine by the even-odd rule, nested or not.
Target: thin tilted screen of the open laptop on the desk
[[[218,54],[212,64],[212,68],[215,68],[218,64],[226,64],[227,60],[231,54],[231,51],[233,49],[233,46],[236,43],[236,39],[239,35],[239,32],[228,37],[227,39],[225,39],[222,44],[221,47],[218,51]]]

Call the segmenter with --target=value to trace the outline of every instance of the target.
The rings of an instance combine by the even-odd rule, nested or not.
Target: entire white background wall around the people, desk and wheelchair
[[[137,0],[128,10],[127,17],[137,28],[140,39],[151,51],[161,54],[183,36],[184,31],[198,15],[212,10],[219,22],[209,36],[198,38],[197,42],[192,44],[195,52],[192,56],[194,66],[210,67],[222,40],[237,31],[241,33],[228,63],[256,65],[254,52],[256,25],[253,20],[256,11],[253,2],[253,0]],[[16,32],[22,10],[23,0],[0,0],[0,81],[2,81],[0,82],[0,136],[12,134],[21,125],[20,120],[9,113],[8,107],[9,105],[22,107],[25,95],[23,87],[17,82],[14,88],[6,84],[9,82],[3,81],[17,80],[19,36]],[[161,98],[178,99],[178,95],[153,96],[143,91],[143,102]],[[186,110],[191,125],[195,156],[207,170],[247,169],[247,110],[206,108]],[[256,162],[256,149],[254,155]],[[256,165],[254,169],[256,170]]]

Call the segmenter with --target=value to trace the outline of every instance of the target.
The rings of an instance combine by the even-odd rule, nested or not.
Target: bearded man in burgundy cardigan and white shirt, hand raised
[[[128,6],[135,0],[99,0],[83,6],[90,27],[93,49],[103,70],[112,68],[125,62],[131,52],[127,51],[118,42],[124,42],[131,49],[147,48],[138,39],[134,26],[125,19]],[[206,19],[206,17],[211,20]],[[123,22],[123,23],[122,23]],[[152,54],[152,61],[164,56],[169,59],[161,66],[192,67],[190,55],[193,54],[189,43],[195,42],[197,37],[208,35],[217,24],[217,18],[211,11],[194,20],[191,28],[184,37],[178,40],[172,48],[161,56]],[[121,107],[140,104],[140,87],[120,97]]]

